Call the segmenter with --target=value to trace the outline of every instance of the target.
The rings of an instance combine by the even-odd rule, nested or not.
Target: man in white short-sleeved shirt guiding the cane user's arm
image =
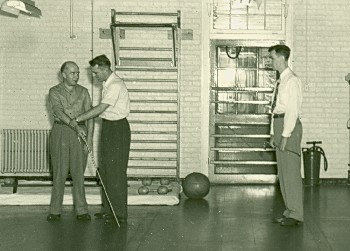
[[[127,167],[130,151],[130,126],[126,117],[130,112],[129,93],[124,81],[111,70],[111,62],[105,55],[92,59],[93,76],[103,83],[99,105],[75,118],[76,122],[100,116],[101,164],[99,172],[118,221],[127,221]],[[106,223],[114,223],[106,195],[102,193],[102,211],[96,213]]]

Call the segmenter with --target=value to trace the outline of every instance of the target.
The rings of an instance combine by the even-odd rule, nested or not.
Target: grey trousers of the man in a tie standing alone
[[[283,118],[277,118],[274,120],[276,144],[279,144],[281,141],[283,122]],[[290,151],[281,151],[278,147],[276,148],[278,179],[284,204],[286,206],[283,215],[299,221],[304,220],[303,183],[300,173],[301,157],[296,153],[301,152],[302,133],[303,128],[298,119],[292,135],[287,140],[286,149]]]

